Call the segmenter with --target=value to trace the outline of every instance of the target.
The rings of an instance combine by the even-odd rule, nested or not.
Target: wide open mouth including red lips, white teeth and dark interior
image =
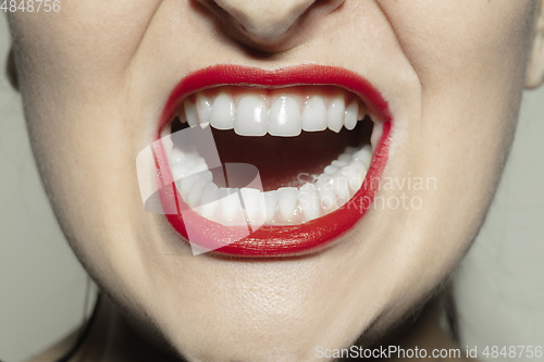
[[[219,65],[182,80],[159,137],[190,127],[209,128],[222,164],[255,166],[259,185],[230,187],[222,167],[218,178],[213,162],[172,137],[156,147],[171,184],[161,202],[178,211],[166,214],[172,226],[206,251],[281,257],[330,246],[364,215],[391,116],[368,82],[342,68]]]

